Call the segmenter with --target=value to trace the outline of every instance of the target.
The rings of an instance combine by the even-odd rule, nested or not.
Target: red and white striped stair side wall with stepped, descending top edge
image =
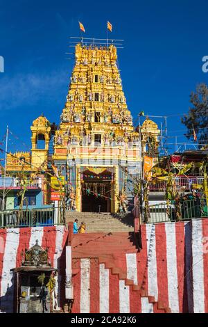
[[[148,296],[126,285],[119,275],[106,269],[96,258],[74,259],[76,274],[73,275],[73,313],[154,313],[159,310]]]

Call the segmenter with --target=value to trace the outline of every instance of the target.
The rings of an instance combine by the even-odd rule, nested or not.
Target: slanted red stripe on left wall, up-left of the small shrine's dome
[[[26,250],[29,249],[31,239],[31,228],[19,228],[19,245],[17,248],[16,266],[21,266]]]

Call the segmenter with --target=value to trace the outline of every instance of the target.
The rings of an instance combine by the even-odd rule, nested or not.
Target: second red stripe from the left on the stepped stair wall
[[[92,258],[90,260],[90,275],[89,275],[89,287],[90,287],[90,313],[100,312],[100,287],[99,287],[99,263],[98,259]]]

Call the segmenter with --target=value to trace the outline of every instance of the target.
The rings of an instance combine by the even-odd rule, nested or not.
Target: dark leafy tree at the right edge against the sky
[[[208,145],[208,87],[205,83],[200,83],[196,88],[196,93],[191,92],[188,115],[184,115],[182,123],[186,125],[188,133],[187,138],[196,141],[197,135],[198,147],[207,147]]]

